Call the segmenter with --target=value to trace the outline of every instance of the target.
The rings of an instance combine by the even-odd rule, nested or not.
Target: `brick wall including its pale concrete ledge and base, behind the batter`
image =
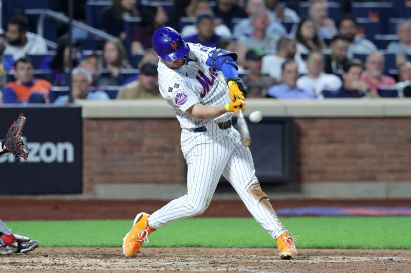
[[[121,199],[184,194],[179,123],[165,101],[79,103],[84,193]],[[246,114],[254,110],[294,117],[295,181],[270,187],[270,198],[409,198],[411,100],[248,99]]]

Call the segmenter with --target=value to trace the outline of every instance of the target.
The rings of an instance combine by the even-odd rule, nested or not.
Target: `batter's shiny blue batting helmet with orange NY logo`
[[[152,44],[154,51],[166,61],[177,60],[190,51],[180,34],[169,27],[156,30],[152,37]]]

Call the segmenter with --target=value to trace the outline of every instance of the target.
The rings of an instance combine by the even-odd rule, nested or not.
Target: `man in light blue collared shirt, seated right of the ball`
[[[314,90],[297,87],[297,79],[300,74],[294,60],[286,60],[281,69],[283,83],[269,88],[268,97],[277,99],[315,99]]]

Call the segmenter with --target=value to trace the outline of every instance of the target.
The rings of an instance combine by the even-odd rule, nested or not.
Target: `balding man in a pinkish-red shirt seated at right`
[[[365,61],[365,71],[361,75],[361,80],[371,89],[370,95],[378,96],[378,88],[394,87],[395,79],[388,75],[383,75],[384,72],[384,55],[380,52],[372,52],[367,56]]]

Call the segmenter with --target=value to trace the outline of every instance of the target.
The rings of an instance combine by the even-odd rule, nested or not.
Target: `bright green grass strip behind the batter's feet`
[[[282,218],[298,248],[411,249],[411,217]],[[118,247],[132,220],[7,221],[43,247]],[[191,218],[149,236],[150,247],[273,247],[252,218]]]

